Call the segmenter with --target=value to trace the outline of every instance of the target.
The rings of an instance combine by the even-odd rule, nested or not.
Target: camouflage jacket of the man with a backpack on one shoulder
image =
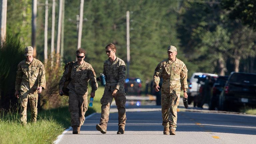
[[[68,84],[67,88],[77,94],[85,94],[88,89],[88,82],[89,80],[91,80],[91,92],[95,93],[98,88],[98,84],[96,82],[96,74],[94,72],[94,69],[92,68],[92,65],[85,61],[81,65],[77,65],[77,62],[71,64],[71,81]],[[66,74],[68,74],[68,69],[69,68],[66,68],[62,78],[60,79],[59,89],[62,89],[64,86],[64,82],[66,81]]]

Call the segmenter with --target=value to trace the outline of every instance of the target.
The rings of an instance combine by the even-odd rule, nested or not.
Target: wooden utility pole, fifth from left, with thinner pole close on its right
[[[60,36],[61,36],[61,23],[62,23],[62,0],[59,1],[59,20],[58,20],[58,33],[57,33],[57,46],[56,46],[56,63],[60,62]]]

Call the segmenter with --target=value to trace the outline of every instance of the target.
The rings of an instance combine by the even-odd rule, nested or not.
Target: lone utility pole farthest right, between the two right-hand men
[[[130,12],[126,12],[126,41],[127,41],[127,78],[129,77],[130,67]]]

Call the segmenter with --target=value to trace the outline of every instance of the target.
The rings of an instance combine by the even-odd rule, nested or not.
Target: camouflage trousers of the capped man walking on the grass
[[[32,122],[36,122],[37,117],[37,101],[38,94],[30,94],[29,92],[20,91],[20,105],[21,105],[21,123],[23,125],[27,124],[27,105],[29,100],[29,106],[31,109],[31,120]]]

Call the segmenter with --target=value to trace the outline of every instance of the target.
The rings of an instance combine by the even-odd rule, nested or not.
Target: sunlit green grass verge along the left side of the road
[[[94,112],[101,112],[100,99],[104,88],[99,87],[94,97],[93,107],[88,107],[85,116]],[[89,92],[90,93],[90,92]],[[88,96],[89,100],[90,96]],[[62,107],[38,112],[37,122],[30,121],[30,111],[27,112],[28,124],[20,124],[19,113],[1,114],[0,144],[51,144],[57,136],[70,127],[70,113],[68,112],[68,97],[62,97]],[[88,101],[89,102],[89,101]]]

